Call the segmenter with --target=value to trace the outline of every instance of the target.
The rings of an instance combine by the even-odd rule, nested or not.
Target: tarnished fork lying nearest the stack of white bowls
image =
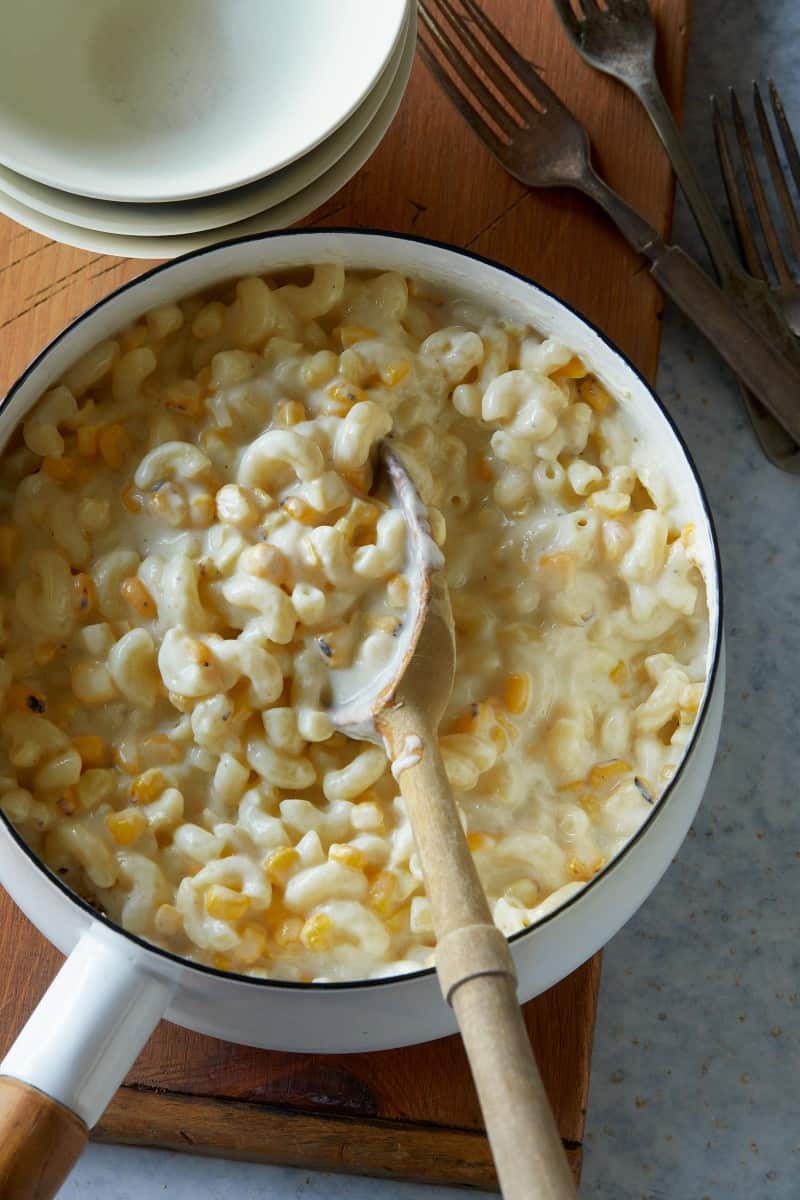
[[[587,131],[533,64],[511,46],[475,0],[462,0],[462,16],[451,0],[439,0],[435,10],[429,0],[420,0],[420,16],[423,60],[494,157],[529,187],[575,187],[600,204],[634,250],[650,260],[650,272],[667,295],[787,433],[800,442],[800,372],[741,316],[688,254],[664,245],[657,229],[597,175]],[[763,283],[756,281],[756,286],[769,295]]]

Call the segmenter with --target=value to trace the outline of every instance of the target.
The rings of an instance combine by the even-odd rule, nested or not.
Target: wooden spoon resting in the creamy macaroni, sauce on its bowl
[[[522,1019],[509,943],[495,928],[439,752],[456,646],[444,558],[408,472],[381,457],[408,524],[410,612],[387,668],[355,696],[331,672],[335,725],[385,745],[405,800],[437,934],[435,964],[469,1057],[506,1200],[573,1200],[564,1146]],[[350,684],[351,686],[351,684]]]

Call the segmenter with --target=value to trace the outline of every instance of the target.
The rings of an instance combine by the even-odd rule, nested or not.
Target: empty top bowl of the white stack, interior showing
[[[210,196],[355,112],[408,0],[0,0],[0,158],[107,200]]]

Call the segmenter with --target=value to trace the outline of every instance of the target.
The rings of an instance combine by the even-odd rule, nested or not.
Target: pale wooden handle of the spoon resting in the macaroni
[[[492,923],[435,730],[410,704],[385,709],[437,932],[437,971],[458,1025],[506,1200],[575,1200],[564,1153],[519,1012],[509,944]]]

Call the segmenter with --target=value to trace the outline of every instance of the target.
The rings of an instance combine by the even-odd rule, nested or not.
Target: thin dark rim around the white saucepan
[[[154,278],[157,275],[163,274],[164,271],[172,270],[175,265],[191,262],[197,258],[201,258],[206,254],[213,254],[221,250],[227,250],[233,246],[240,246],[245,242],[255,244],[255,242],[271,241],[277,238],[296,238],[296,236],[313,239],[319,235],[330,236],[330,235],[342,235],[342,234],[353,238],[362,238],[362,236],[385,238],[385,239],[391,239],[392,241],[413,242],[419,246],[432,246],[438,250],[449,251],[462,258],[471,259],[473,262],[480,264],[480,266],[482,268],[488,266],[493,270],[503,272],[504,275],[509,275],[512,278],[521,281],[522,283],[536,288],[536,290],[540,292],[542,295],[545,295],[548,299],[548,301],[552,300],[557,305],[561,305],[570,313],[572,313],[573,317],[577,317],[579,322],[587,325],[587,328],[589,328],[603,342],[603,344],[612,352],[612,354],[616,355],[619,359],[622,360],[625,366],[633,373],[633,376],[645,389],[645,391],[650,396],[650,400],[655,403],[656,408],[660,410],[661,415],[666,420],[672,432],[672,436],[678,442],[678,445],[680,446],[680,450],[686,460],[686,463],[688,464],[691,475],[694,480],[694,485],[698,491],[700,506],[703,509],[703,514],[705,516],[709,529],[710,542],[711,542],[711,566],[714,571],[714,581],[716,582],[716,592],[717,592],[716,628],[710,629],[710,634],[714,636],[714,649],[710,656],[710,667],[705,682],[705,690],[703,694],[703,700],[700,702],[700,708],[697,714],[697,719],[694,721],[692,736],[688,742],[688,745],[686,746],[684,756],[678,764],[675,774],[664,787],[663,792],[661,793],[656,804],[652,806],[652,810],[648,815],[646,820],[643,821],[637,832],[625,844],[625,846],[614,856],[614,858],[612,858],[600,871],[597,871],[597,874],[594,875],[593,878],[589,880],[583,888],[581,888],[573,895],[569,896],[569,899],[566,899],[561,905],[559,905],[558,908],[554,908],[552,912],[546,913],[540,920],[536,922],[536,924],[530,925],[528,929],[521,929],[516,934],[512,934],[507,938],[507,941],[509,944],[513,947],[518,943],[522,943],[525,938],[530,937],[531,935],[536,934],[545,925],[552,924],[558,917],[560,917],[563,913],[566,913],[570,908],[572,908],[585,896],[588,896],[591,889],[595,887],[595,884],[607,878],[618,866],[618,864],[620,864],[625,858],[627,858],[627,856],[633,851],[633,848],[639,845],[639,842],[644,839],[645,834],[657,822],[658,817],[667,808],[669,798],[672,797],[672,793],[674,792],[676,785],[681,780],[688,763],[691,762],[691,760],[696,754],[699,737],[705,725],[706,716],[709,714],[711,696],[716,689],[721,656],[722,656],[722,642],[723,642],[722,560],[720,554],[720,544],[718,544],[716,526],[714,522],[714,516],[711,514],[711,508],[705,492],[705,487],[703,485],[694,460],[686,445],[686,442],[680,430],[675,425],[675,421],[673,420],[672,415],[664,407],[661,398],[657,396],[655,389],[644,378],[642,372],[630,360],[630,358],[603,332],[603,330],[601,330],[597,325],[595,325],[594,322],[589,320],[578,308],[569,304],[566,300],[563,300],[560,296],[555,295],[555,293],[551,292],[549,288],[542,287],[542,284],[537,283],[536,280],[534,280],[531,276],[525,275],[522,271],[517,271],[511,266],[506,266],[505,264],[499,263],[495,259],[487,258],[485,254],[479,254],[471,250],[464,250],[461,246],[453,245],[452,242],[440,241],[434,238],[423,238],[419,235],[397,233],[387,229],[375,229],[372,227],[354,228],[351,226],[324,226],[324,227],[320,226],[320,227],[299,228],[299,229],[273,229],[267,233],[249,234],[240,238],[230,238],[221,242],[215,242],[211,246],[203,246],[199,250],[193,250],[186,254],[181,254],[179,258],[169,259],[166,263],[160,263],[157,266],[154,266],[148,271],[143,271],[143,274],[136,276],[136,278],[128,280],[126,283],[122,283],[119,288],[115,288],[108,295],[103,296],[101,300],[97,300],[89,308],[84,310],[84,312],[79,313],[73,320],[70,322],[68,325],[65,326],[65,329],[62,329],[59,334],[56,334],[55,337],[53,337],[34,359],[31,359],[31,361],[28,364],[24,371],[11,384],[2,400],[0,400],[0,412],[2,412],[7,407],[7,404],[10,404],[13,401],[17,392],[23,388],[29,377],[49,356],[52,350],[61,342],[64,342],[67,337],[72,336],[72,332],[79,325],[82,325],[85,320],[91,318],[96,312],[104,308],[107,305],[113,304],[124,293],[132,290],[137,286],[144,283],[148,280]],[[18,846],[19,850],[22,850],[25,857],[30,860],[31,865],[36,868],[38,871],[41,871],[42,875],[46,877],[46,880],[48,880],[48,882],[54,884],[68,901],[77,905],[84,912],[85,916],[90,917],[95,922],[100,922],[102,925],[112,930],[114,934],[128,938],[140,950],[148,952],[149,954],[154,954],[158,959],[167,960],[167,962],[169,962],[172,966],[179,966],[188,971],[198,971],[203,976],[210,976],[216,979],[222,979],[223,982],[229,980],[231,983],[248,984],[253,988],[266,989],[267,991],[272,988],[276,988],[282,991],[285,990],[301,991],[301,992],[311,991],[320,994],[325,994],[329,991],[357,991],[361,989],[377,989],[392,984],[397,985],[397,984],[411,983],[414,980],[432,977],[435,974],[435,967],[429,966],[429,967],[420,967],[419,971],[403,972],[401,974],[379,976],[374,979],[333,979],[330,982],[302,983],[295,979],[271,979],[271,978],[260,978],[248,974],[240,974],[235,971],[222,971],[218,967],[207,966],[204,962],[196,962],[192,959],[184,958],[180,954],[175,954],[173,950],[167,950],[161,946],[156,946],[155,943],[146,941],[146,938],[140,937],[138,934],[130,932],[128,930],[119,925],[116,922],[112,920],[110,917],[107,917],[104,913],[101,913],[96,908],[94,908],[89,904],[89,901],[84,900],[83,896],[79,896],[76,892],[68,888],[67,884],[64,883],[64,881],[59,878],[59,876],[38,858],[38,856],[30,848],[28,842],[22,838],[22,835],[18,833],[18,830],[14,828],[14,826],[11,823],[11,821],[5,815],[5,812],[2,812],[1,809],[0,809],[0,829],[4,829],[11,836],[12,841]]]

